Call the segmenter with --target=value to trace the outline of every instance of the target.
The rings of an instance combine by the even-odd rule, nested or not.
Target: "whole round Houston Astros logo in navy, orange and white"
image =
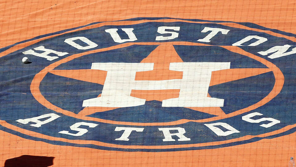
[[[19,42],[0,53],[8,69],[1,130],[58,145],[148,152],[287,135],[296,122],[295,42],[255,24],[166,18]],[[24,56],[32,63],[23,64]]]

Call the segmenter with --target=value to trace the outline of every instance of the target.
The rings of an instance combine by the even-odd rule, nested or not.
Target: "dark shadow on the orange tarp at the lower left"
[[[5,161],[4,167],[47,167],[55,157],[22,155]]]

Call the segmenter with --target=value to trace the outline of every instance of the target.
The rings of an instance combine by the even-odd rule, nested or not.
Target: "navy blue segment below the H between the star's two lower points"
[[[90,117],[125,122],[169,122],[180,119],[205,119],[215,115],[183,107],[161,107],[160,101],[146,101],[145,105],[97,112]]]

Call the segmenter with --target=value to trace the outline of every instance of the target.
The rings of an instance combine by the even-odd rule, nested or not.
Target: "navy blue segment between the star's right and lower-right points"
[[[273,73],[268,72],[211,86],[209,94],[211,97],[224,99],[224,107],[221,107],[221,109],[228,114],[263,99],[272,90],[274,82]]]

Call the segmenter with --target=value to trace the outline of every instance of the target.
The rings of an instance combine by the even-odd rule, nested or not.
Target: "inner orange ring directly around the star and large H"
[[[265,96],[261,101],[250,105],[249,107],[246,107],[244,109],[237,110],[235,112],[226,114],[224,116],[217,116],[217,117],[212,117],[212,118],[206,118],[206,119],[200,119],[200,120],[189,120],[189,119],[180,119],[178,121],[171,121],[171,122],[149,122],[149,123],[142,123],[142,122],[121,122],[121,121],[112,121],[112,120],[105,120],[101,118],[92,118],[92,117],[87,117],[87,116],[81,116],[78,114],[75,114],[71,111],[64,110],[60,107],[57,107],[53,104],[51,104],[49,101],[45,99],[45,97],[41,94],[39,86],[40,82],[43,80],[47,72],[53,70],[55,67],[59,66],[62,63],[71,61],[75,58],[91,54],[91,53],[98,53],[98,52],[103,52],[107,50],[113,50],[113,49],[118,49],[126,46],[131,46],[131,45],[193,45],[193,46],[211,46],[207,44],[199,44],[199,43],[193,43],[193,42],[130,42],[130,43],[125,43],[125,44],[120,44],[120,45],[115,45],[111,46],[108,48],[102,48],[102,49],[96,49],[96,50],[91,50],[88,52],[80,53],[80,54],[73,54],[71,56],[68,56],[67,58],[61,59],[60,61],[54,62],[50,64],[49,66],[45,67],[43,70],[41,70],[39,73],[37,73],[34,77],[34,79],[31,82],[31,93],[34,96],[34,98],[43,106],[58,112],[58,113],[63,113],[64,115],[78,118],[78,119],[83,119],[83,120],[88,120],[88,121],[97,121],[97,122],[103,122],[103,123],[111,123],[111,124],[119,124],[119,125],[133,125],[133,126],[167,126],[167,125],[177,125],[177,124],[182,124],[186,122],[210,122],[210,121],[215,121],[219,119],[224,119],[224,118],[229,118],[232,116],[236,116],[248,111],[251,111],[253,109],[256,109],[262,105],[265,105],[267,102],[269,102],[271,99],[273,99],[275,96],[278,95],[278,93],[282,90],[283,84],[284,84],[284,75],[282,72],[279,70],[277,66],[275,66],[273,63],[265,60],[264,58],[261,58],[259,56],[250,54],[249,52],[246,52],[245,50],[237,47],[237,46],[220,46],[225,49],[228,49],[232,52],[239,53],[245,56],[248,56],[250,58],[253,58],[263,64],[265,64],[268,68],[270,68],[273,71],[273,75],[275,77],[275,83],[273,86],[273,89],[267,96]]]

